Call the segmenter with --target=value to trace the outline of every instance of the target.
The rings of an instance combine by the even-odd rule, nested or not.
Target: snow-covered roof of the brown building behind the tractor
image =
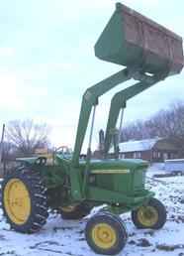
[[[161,140],[161,138],[123,142],[119,144],[120,152],[147,151],[152,149],[159,140]],[[114,149],[111,148],[110,153],[113,153],[113,152],[114,152]]]

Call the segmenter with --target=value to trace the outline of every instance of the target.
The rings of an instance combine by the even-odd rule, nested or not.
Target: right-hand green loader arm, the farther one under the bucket
[[[138,79],[140,80],[139,82],[132,85],[131,87],[128,87],[126,89],[123,89],[122,91],[117,92],[111,100],[111,107],[108,117],[104,143],[105,156],[107,156],[109,152],[112,138],[116,132],[116,124],[120,114],[120,110],[126,107],[127,100],[138,95],[138,93],[149,88],[150,86],[154,85],[155,83],[159,82],[164,78],[164,76],[161,75],[154,75],[150,77],[146,74],[141,74],[138,76]]]

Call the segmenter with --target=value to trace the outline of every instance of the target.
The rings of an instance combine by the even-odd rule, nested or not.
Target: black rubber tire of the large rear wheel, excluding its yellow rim
[[[6,206],[6,188],[13,180],[18,180],[24,184],[29,194],[30,213],[23,223],[16,223],[8,212]],[[18,169],[4,178],[2,183],[2,208],[7,222],[11,228],[22,233],[34,233],[39,231],[46,224],[47,198],[46,187],[40,175],[30,169]]]

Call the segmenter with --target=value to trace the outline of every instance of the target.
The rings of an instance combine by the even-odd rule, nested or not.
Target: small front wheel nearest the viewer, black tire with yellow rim
[[[100,225],[107,225],[107,227],[109,227],[111,230],[110,233],[104,230],[104,234],[106,235],[105,238],[99,237],[98,233],[95,233],[95,235],[93,234],[94,232],[97,232]],[[102,232],[102,230],[99,230],[98,232]],[[111,232],[113,232],[113,235]],[[101,236],[103,233],[99,233],[99,235]],[[116,255],[125,247],[128,240],[128,233],[122,219],[119,216],[110,212],[100,212],[88,220],[85,228],[85,237],[88,245],[95,253]],[[109,245],[107,244],[108,242]]]

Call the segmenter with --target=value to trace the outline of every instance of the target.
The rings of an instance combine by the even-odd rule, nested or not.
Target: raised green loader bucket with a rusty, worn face
[[[182,38],[120,3],[95,45],[99,59],[167,75],[183,68]]]

